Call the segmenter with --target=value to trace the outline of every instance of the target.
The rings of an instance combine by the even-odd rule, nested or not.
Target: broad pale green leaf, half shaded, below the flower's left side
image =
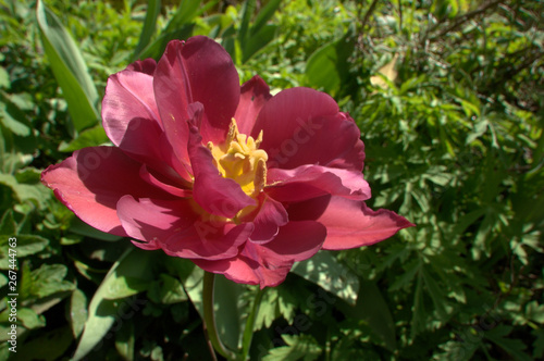
[[[153,277],[147,265],[156,254],[129,247],[112,265],[90,300],[89,316],[85,322],[74,360],[81,360],[90,352],[106,336],[113,322],[122,322],[141,309],[144,300],[119,298],[145,289],[144,282],[147,281],[149,284]],[[118,299],[113,299],[115,295]]]

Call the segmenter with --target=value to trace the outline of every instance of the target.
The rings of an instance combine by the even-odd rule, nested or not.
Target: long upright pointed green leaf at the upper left
[[[74,39],[42,1],[36,9],[44,50],[67,102],[72,135],[97,124],[98,92]]]

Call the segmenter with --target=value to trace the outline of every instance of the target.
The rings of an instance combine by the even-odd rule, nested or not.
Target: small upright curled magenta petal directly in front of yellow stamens
[[[202,146],[195,125],[190,126],[188,152],[195,176],[193,197],[203,210],[232,219],[242,209],[256,204],[255,199],[247,196],[236,182],[219,173],[213,165],[213,155]]]

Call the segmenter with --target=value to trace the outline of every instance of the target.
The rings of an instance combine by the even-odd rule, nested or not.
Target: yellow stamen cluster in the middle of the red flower
[[[234,179],[242,190],[256,197],[267,183],[267,161],[269,155],[259,146],[262,142],[262,130],[257,139],[238,132],[236,121],[232,120],[228,134],[223,144],[214,146],[208,142],[215,166],[225,178]]]

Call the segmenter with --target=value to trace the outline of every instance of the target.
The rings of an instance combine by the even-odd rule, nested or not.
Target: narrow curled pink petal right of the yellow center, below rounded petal
[[[267,194],[279,201],[296,202],[324,195],[366,200],[370,186],[357,171],[302,165],[294,170],[271,169]]]

